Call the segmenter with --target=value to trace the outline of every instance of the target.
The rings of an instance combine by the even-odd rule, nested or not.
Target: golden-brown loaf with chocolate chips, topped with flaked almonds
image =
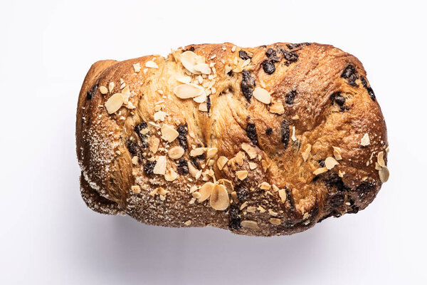
[[[362,63],[318,43],[98,61],[76,140],[88,207],[167,227],[293,234],[364,209],[389,177]]]

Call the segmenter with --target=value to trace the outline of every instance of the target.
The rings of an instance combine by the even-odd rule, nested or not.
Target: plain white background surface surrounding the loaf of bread
[[[0,4],[0,284],[426,284],[423,1]],[[391,150],[367,209],[257,238],[85,207],[75,108],[90,65],[224,41],[331,43],[364,63]]]

